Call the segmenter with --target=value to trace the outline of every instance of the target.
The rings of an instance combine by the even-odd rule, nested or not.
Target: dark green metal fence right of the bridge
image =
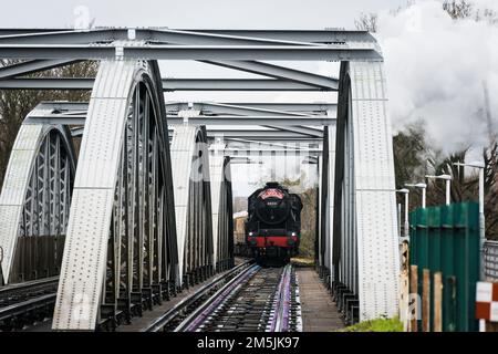
[[[409,263],[443,275],[443,331],[477,331],[476,282],[479,279],[479,208],[475,202],[417,209],[409,216]],[[430,330],[434,329],[434,285],[430,287]],[[421,330],[421,321],[418,330]]]

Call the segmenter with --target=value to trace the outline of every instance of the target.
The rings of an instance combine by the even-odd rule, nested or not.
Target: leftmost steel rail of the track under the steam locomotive
[[[234,275],[235,273],[239,272],[240,270],[242,270],[245,268],[249,268],[249,266],[251,263],[252,263],[252,260],[243,262],[243,263],[235,267],[230,271],[226,272],[225,274],[216,277],[208,284],[201,287],[198,291],[196,291],[191,295],[185,298],[184,300],[178,302],[174,308],[166,311],[163,315],[157,317],[153,323],[151,323],[147,327],[143,329],[141,332],[159,332],[159,331],[162,331],[168,323],[170,323],[174,319],[176,319],[180,312],[186,310],[193,303],[196,303],[197,301],[199,301],[203,296],[205,296],[207,293],[209,293],[212,289],[215,289],[217,285],[221,284],[225,280],[227,280],[227,278]]]

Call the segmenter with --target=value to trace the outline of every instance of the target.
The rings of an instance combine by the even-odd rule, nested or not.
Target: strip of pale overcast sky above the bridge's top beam
[[[323,29],[353,28],[361,12],[406,0],[15,0],[2,1],[1,27],[72,27],[86,6],[96,25]]]

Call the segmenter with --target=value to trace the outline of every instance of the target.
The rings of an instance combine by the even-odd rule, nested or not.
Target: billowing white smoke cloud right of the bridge
[[[498,1],[476,6],[496,9]],[[498,115],[498,25],[454,21],[435,0],[381,12],[378,24],[394,129],[423,119],[444,153],[486,144],[484,82]]]

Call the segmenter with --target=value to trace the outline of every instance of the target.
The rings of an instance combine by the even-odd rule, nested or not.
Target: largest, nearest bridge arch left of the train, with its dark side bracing
[[[175,291],[168,132],[156,62],[103,61],[75,176],[54,330],[127,320]]]

